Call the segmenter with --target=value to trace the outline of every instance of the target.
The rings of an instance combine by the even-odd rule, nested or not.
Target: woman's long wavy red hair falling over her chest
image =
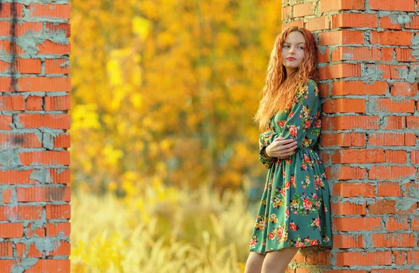
[[[304,58],[297,70],[286,75],[286,68],[282,64],[282,46],[289,33],[299,31],[304,36]],[[265,86],[260,95],[259,109],[253,117],[259,130],[263,131],[273,114],[289,109],[297,89],[302,84],[307,84],[309,79],[318,80],[316,40],[313,33],[299,26],[291,26],[277,36],[274,49],[270,55],[267,67]]]

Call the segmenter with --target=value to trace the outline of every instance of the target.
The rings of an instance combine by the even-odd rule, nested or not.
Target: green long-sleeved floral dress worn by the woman
[[[269,170],[250,251],[332,246],[329,187],[313,150],[320,131],[321,102],[316,82],[310,79],[297,90],[291,107],[274,114],[260,134],[259,159]],[[277,137],[295,139],[295,152],[284,159],[266,157],[265,148]]]

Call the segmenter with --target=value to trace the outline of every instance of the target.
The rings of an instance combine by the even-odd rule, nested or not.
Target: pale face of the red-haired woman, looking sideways
[[[286,36],[282,45],[282,64],[286,68],[286,74],[296,70],[304,59],[305,40],[300,31],[293,31]]]

